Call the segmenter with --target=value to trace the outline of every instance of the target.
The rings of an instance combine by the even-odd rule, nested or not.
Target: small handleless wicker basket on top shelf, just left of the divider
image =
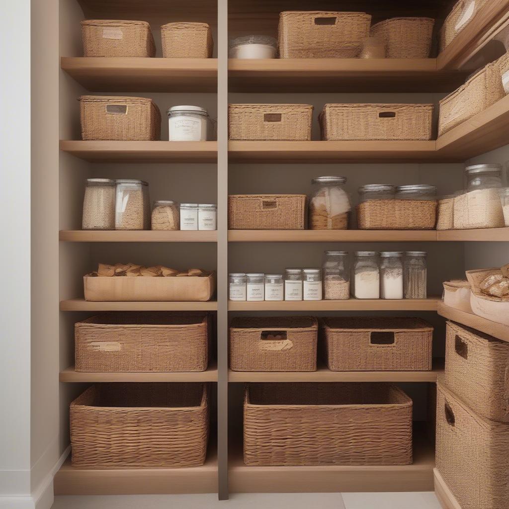
[[[164,58],[210,59],[214,49],[207,23],[167,23],[161,26]]]

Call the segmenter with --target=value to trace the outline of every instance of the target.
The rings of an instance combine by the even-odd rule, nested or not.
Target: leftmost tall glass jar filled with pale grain
[[[87,179],[82,230],[115,230],[115,180]]]

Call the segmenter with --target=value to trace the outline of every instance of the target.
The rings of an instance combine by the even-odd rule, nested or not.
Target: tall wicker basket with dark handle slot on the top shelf
[[[279,58],[349,58],[369,37],[371,16],[363,12],[286,11],[279,14]]]

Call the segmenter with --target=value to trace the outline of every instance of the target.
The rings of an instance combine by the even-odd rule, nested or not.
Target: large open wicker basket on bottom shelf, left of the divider
[[[102,383],[71,403],[72,465],[81,468],[203,465],[208,388],[191,383]]]

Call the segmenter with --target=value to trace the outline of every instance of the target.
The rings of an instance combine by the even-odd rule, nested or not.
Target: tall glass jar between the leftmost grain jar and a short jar
[[[116,184],[115,230],[150,230],[148,183],[120,179]]]

